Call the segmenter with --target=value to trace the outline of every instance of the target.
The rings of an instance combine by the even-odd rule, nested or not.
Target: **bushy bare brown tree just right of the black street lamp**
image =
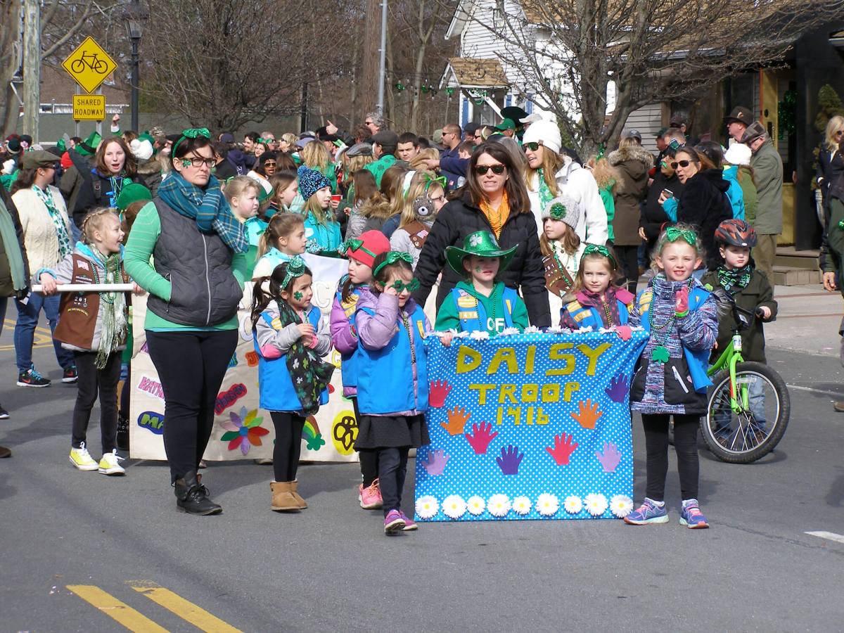
[[[295,114],[303,83],[348,77],[354,15],[342,0],[151,0],[143,90],[164,111],[220,130]]]

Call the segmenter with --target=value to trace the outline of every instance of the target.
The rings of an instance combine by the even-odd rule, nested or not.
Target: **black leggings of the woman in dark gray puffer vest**
[[[199,468],[214,426],[214,403],[236,346],[237,330],[147,330],[149,356],[164,391],[170,482]]]

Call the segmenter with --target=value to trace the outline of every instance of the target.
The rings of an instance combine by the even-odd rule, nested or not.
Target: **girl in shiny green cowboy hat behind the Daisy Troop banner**
[[[446,247],[446,259],[463,281],[458,281],[436,314],[437,332],[488,332],[527,327],[527,307],[516,290],[496,278],[507,268],[516,246],[501,250],[490,231],[467,235],[463,248]],[[448,339],[441,339],[447,344]]]

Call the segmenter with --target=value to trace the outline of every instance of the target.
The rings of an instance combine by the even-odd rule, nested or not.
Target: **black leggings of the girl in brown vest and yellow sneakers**
[[[100,392],[100,436],[103,453],[111,452],[117,439],[117,381],[120,379],[121,352],[112,352],[106,366],[98,370],[96,352],[73,352],[79,379],[76,405],[73,407],[73,448],[82,446],[91,419],[91,409]]]

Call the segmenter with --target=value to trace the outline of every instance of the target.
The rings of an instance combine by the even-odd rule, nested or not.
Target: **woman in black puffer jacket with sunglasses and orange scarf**
[[[501,167],[501,173],[496,174],[494,169]],[[424,306],[437,275],[442,273],[436,296],[437,307],[441,305],[460,281],[457,273],[446,266],[446,246],[463,246],[463,238],[479,230],[495,235],[501,248],[517,246],[515,256],[499,279],[511,288],[521,289],[532,325],[549,327],[548,290],[536,219],[522,176],[500,143],[484,143],[475,150],[469,161],[466,192],[437,214],[419,254],[416,278],[420,285],[414,299]]]

